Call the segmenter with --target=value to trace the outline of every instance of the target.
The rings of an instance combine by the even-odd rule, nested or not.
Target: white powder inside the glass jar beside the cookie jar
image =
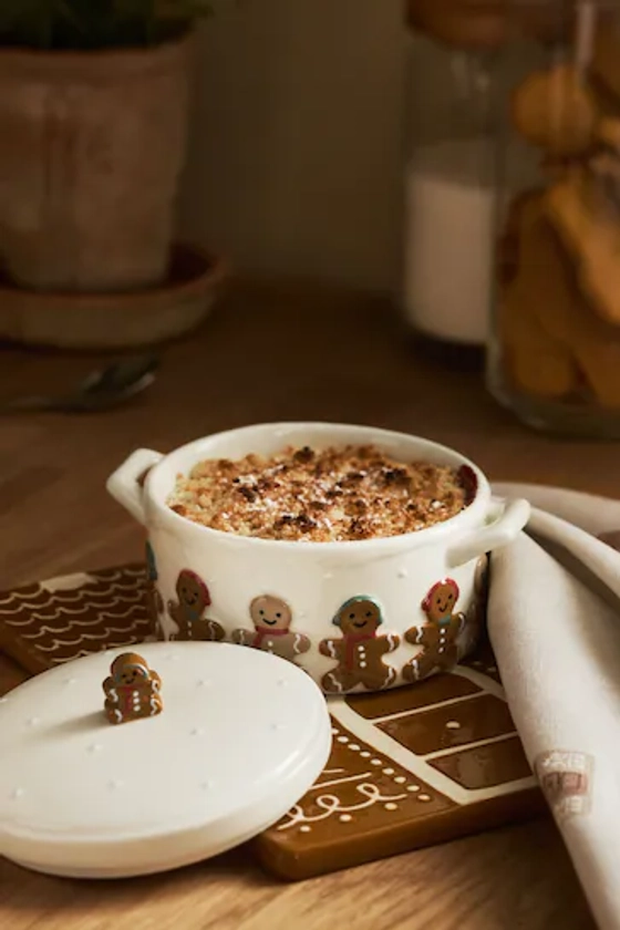
[[[417,330],[484,343],[492,299],[493,141],[417,148],[405,193],[404,308]]]

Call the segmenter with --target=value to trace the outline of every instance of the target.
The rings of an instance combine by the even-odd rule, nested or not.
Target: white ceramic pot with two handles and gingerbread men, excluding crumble
[[[472,502],[417,533],[347,542],[235,536],[166,505],[177,475],[205,458],[270,455],[288,444],[368,443],[397,461],[464,468]],[[451,668],[475,642],[486,554],[510,542],[529,517],[526,500],[492,500],[485,475],[453,450],[328,423],[247,426],[165,456],[138,450],[107,489],[147,529],[149,601],[161,637],[225,639],[275,652],[328,693],[378,691]]]

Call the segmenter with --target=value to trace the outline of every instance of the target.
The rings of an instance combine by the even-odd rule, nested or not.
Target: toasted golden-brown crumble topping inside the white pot
[[[178,475],[168,499],[177,514],[211,529],[314,542],[413,533],[467,503],[453,468],[396,462],[372,445],[207,459]]]

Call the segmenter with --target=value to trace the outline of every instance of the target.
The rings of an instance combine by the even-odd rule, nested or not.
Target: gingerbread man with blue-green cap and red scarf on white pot
[[[381,608],[372,598],[350,598],[342,604],[333,618],[341,638],[322,640],[319,644],[322,655],[338,662],[323,675],[323,691],[341,694],[356,685],[381,691],[395,681],[396,671],[383,657],[397,649],[401,639],[395,633],[378,636],[382,622]]]

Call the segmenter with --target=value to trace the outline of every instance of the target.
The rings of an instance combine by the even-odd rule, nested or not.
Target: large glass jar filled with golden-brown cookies
[[[535,427],[620,437],[620,6],[515,0],[515,50],[488,386]]]

